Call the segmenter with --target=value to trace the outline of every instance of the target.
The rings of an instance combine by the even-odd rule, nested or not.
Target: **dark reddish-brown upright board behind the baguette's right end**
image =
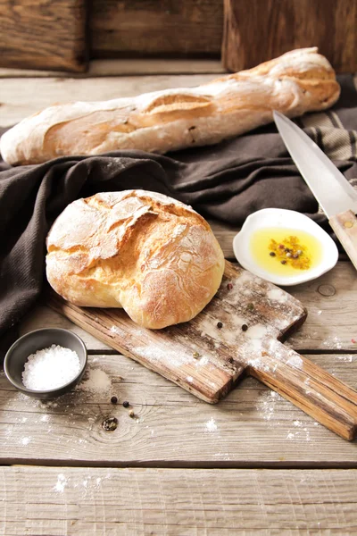
[[[318,46],[337,72],[357,71],[356,0],[225,0],[224,8],[222,62],[230,71],[304,46]]]

